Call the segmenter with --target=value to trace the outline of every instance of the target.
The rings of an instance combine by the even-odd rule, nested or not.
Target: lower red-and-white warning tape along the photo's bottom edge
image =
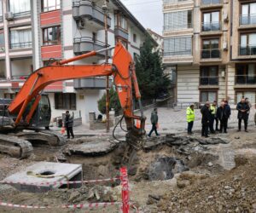
[[[111,203],[90,203],[90,204],[66,204],[60,206],[39,206],[39,205],[26,205],[26,204],[10,204],[0,201],[0,206],[11,207],[11,208],[21,208],[21,209],[95,209],[95,208],[106,208],[110,205],[121,206],[121,202],[111,202]]]

